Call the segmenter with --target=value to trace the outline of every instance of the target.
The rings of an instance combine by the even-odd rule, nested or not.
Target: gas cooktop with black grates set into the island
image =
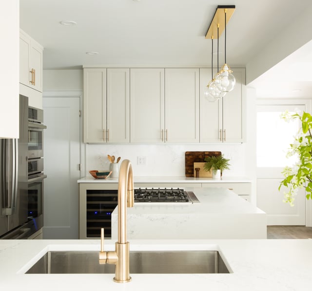
[[[134,193],[135,202],[193,202],[191,192],[179,188],[138,188]]]

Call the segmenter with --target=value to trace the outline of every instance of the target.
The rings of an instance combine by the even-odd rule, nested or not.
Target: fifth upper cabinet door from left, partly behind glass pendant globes
[[[211,80],[211,69],[200,69],[200,142],[222,143],[222,100],[210,102],[204,89]]]

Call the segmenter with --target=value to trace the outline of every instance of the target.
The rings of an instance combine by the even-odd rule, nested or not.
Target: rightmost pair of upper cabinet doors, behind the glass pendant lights
[[[211,80],[211,69],[200,69],[200,142],[241,143],[243,142],[243,95],[245,69],[232,69],[236,78],[234,90],[215,102],[203,95]]]

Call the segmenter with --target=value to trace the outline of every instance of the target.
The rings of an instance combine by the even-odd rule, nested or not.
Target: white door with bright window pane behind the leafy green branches
[[[303,105],[257,106],[257,207],[267,213],[268,225],[305,225],[305,191],[300,189],[294,206],[283,202],[283,191],[278,191],[281,174],[294,160],[286,158],[299,123],[287,123],[280,114],[305,109]]]

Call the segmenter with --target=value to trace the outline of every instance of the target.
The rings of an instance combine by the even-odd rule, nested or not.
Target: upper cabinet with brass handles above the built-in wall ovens
[[[42,108],[43,47],[20,30],[20,94],[30,106]]]

